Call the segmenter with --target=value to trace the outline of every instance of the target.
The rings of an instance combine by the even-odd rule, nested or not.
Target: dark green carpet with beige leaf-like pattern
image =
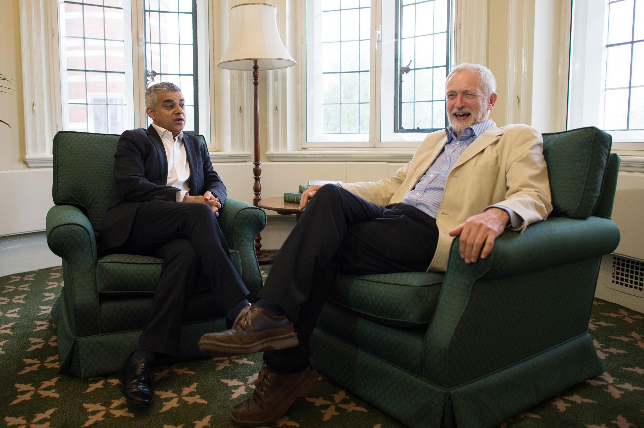
[[[56,328],[50,311],[61,287],[60,267],[0,278],[0,426],[3,422],[14,428],[232,426],[229,408],[251,394],[260,354],[157,367],[153,407],[132,408],[122,398],[115,375],[77,379],[57,374]],[[603,375],[500,427],[644,427],[644,316],[596,300],[589,328]],[[323,378],[273,426],[401,425]]]

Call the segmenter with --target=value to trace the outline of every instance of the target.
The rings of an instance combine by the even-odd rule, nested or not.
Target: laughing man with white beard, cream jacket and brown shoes
[[[308,338],[337,272],[445,271],[455,236],[460,256],[476,263],[504,229],[522,231],[551,212],[542,137],[488,120],[496,86],[484,66],[454,67],[446,78],[451,126],[426,136],[393,177],[303,193],[300,208],[308,207],[257,303],[231,330],[200,341],[211,355],[265,351],[254,393],[232,407],[232,422],[268,425],[314,386]]]

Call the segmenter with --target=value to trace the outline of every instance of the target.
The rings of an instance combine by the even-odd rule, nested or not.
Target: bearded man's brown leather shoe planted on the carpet
[[[304,397],[316,384],[319,373],[307,367],[290,375],[277,375],[261,366],[251,398],[231,407],[231,419],[242,427],[272,424],[284,416],[296,398]]]

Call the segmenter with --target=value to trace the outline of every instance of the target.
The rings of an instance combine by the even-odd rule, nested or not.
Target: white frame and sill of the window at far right
[[[608,1],[573,1],[567,129],[603,127],[608,37]],[[602,28],[603,31],[597,31]],[[598,90],[597,88],[600,88]],[[629,131],[606,131],[613,150],[644,151],[644,139]]]

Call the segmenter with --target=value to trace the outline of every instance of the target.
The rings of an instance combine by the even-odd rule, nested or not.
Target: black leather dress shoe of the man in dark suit
[[[131,360],[132,354],[123,362],[118,380],[123,384],[123,395],[132,404],[149,407],[155,397],[152,388],[152,362],[147,358]]]

